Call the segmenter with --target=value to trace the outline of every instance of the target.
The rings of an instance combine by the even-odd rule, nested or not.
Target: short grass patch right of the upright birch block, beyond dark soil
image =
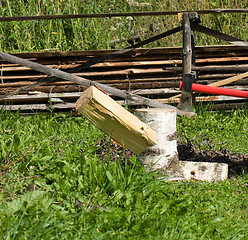
[[[209,145],[219,150],[248,154],[248,111],[247,108],[213,113],[198,107],[199,116],[178,119],[178,134],[183,140],[189,138],[201,147]]]

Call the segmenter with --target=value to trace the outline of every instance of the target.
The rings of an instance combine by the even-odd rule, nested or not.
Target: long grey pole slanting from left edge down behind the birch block
[[[156,107],[156,108],[167,108],[167,109],[176,109],[177,110],[177,114],[178,115],[187,115],[187,116],[192,116],[193,113],[186,113],[184,111],[178,110],[176,107],[168,105],[168,104],[163,104],[160,102],[156,102],[154,100],[145,98],[145,97],[141,97],[139,95],[136,94],[132,94],[123,90],[119,90],[101,83],[97,83],[91,80],[88,80],[86,78],[82,78],[76,75],[72,75],[70,73],[67,72],[63,72],[60,71],[58,69],[53,69],[47,66],[43,66],[39,63],[35,63],[35,62],[31,62],[16,56],[13,56],[11,54],[8,53],[4,53],[0,51],[0,57],[8,62],[12,62],[12,63],[16,63],[16,64],[20,64],[22,66],[34,69],[38,72],[42,72],[44,74],[47,74],[49,76],[53,76],[53,77],[57,77],[60,79],[64,79],[66,81],[71,81],[86,87],[90,87],[90,86],[97,86],[98,88],[102,89],[103,91],[105,91],[108,94],[114,95],[114,96],[118,96],[120,98],[126,99],[127,100],[127,104],[128,101],[130,102],[137,102],[141,105],[147,105],[150,107]]]

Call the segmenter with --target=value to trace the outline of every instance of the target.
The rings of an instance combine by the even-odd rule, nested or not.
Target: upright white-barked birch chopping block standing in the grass
[[[139,158],[152,170],[176,169],[178,164],[176,111],[173,109],[138,109],[137,116],[157,134],[157,144],[148,147]]]

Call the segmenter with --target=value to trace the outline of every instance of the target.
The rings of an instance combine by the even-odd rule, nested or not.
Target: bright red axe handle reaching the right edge
[[[182,90],[182,86],[183,86],[183,82],[180,81],[180,85],[179,85],[180,90]],[[229,89],[229,88],[212,87],[212,86],[196,84],[196,83],[192,84],[192,92],[200,92],[200,93],[248,98],[248,91]]]

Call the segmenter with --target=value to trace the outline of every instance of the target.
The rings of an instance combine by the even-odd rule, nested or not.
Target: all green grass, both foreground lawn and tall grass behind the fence
[[[0,12],[9,17],[247,7],[241,0],[145,2],[3,0]],[[201,20],[247,40],[247,14]],[[143,40],[178,25],[177,16],[1,22],[0,48],[120,49],[127,43],[111,41],[137,34]],[[223,42],[196,34],[196,45],[208,44]],[[182,36],[146,47],[162,46],[182,46]],[[197,118],[178,117],[178,142],[247,159],[247,107],[196,111]],[[135,155],[123,149],[113,155],[110,139],[82,117],[1,110],[0,119],[1,239],[247,239],[246,160],[223,182],[166,182],[161,173],[146,171]]]

